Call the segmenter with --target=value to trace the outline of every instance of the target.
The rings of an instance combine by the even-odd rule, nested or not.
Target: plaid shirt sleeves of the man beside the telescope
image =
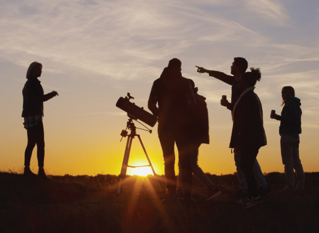
[[[196,98],[189,80],[188,80],[188,87],[189,88],[187,89],[187,93],[186,93],[187,107],[195,107]],[[159,108],[156,106],[157,102],[158,102],[158,96],[153,84],[147,106],[148,106],[148,109],[150,109],[151,112],[158,117]]]

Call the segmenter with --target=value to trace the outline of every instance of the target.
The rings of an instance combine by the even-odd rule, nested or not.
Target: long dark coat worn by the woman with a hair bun
[[[233,130],[229,148],[239,145],[267,145],[263,107],[253,88],[246,89],[234,107]]]

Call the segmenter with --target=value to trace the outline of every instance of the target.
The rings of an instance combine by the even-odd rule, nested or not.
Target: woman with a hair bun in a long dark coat
[[[229,148],[240,152],[240,168],[247,181],[248,198],[237,200],[244,208],[255,206],[262,202],[258,193],[253,165],[259,149],[267,145],[263,121],[263,107],[259,97],[254,92],[255,84],[260,81],[260,69],[250,68],[238,82],[242,92],[233,110],[233,130]]]

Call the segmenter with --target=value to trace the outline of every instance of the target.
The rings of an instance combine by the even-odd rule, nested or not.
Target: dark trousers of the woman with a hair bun
[[[240,168],[245,174],[247,181],[248,198],[258,197],[258,187],[253,172],[253,166],[260,147],[254,145],[239,145],[240,148]]]

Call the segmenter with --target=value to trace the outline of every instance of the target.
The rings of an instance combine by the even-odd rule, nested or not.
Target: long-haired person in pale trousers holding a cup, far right
[[[299,158],[299,134],[301,133],[300,99],[294,96],[292,86],[284,86],[281,91],[284,105],[281,115],[271,114],[270,118],[280,121],[280,148],[282,162],[285,165],[287,185],[283,191],[304,190],[305,175]],[[295,180],[295,170],[297,179]],[[296,185],[295,185],[296,182]]]

